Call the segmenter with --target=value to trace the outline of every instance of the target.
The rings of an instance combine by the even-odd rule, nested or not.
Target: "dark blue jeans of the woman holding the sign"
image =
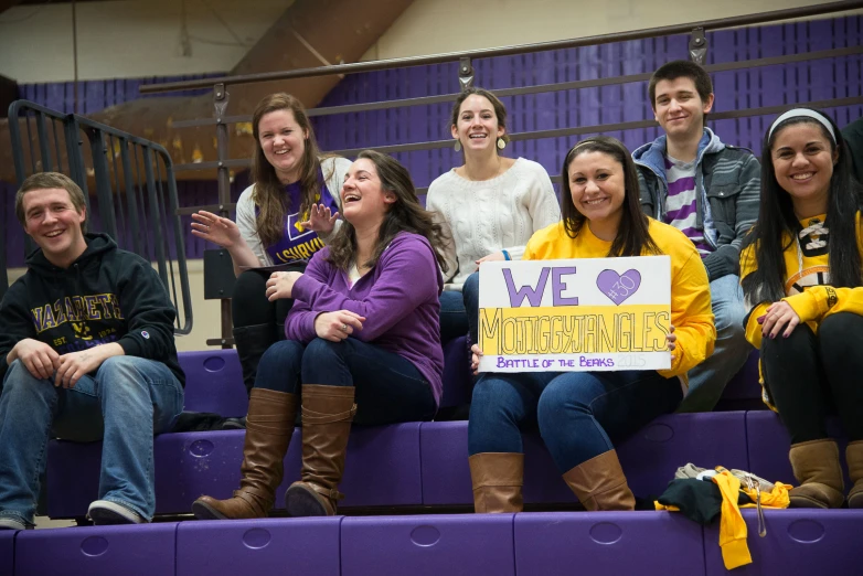
[[[682,396],[678,378],[654,371],[487,373],[473,388],[468,451],[522,452],[521,431],[539,424],[563,474],[673,412]]]

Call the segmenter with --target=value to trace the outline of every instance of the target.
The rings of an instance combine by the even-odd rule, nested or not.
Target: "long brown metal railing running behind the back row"
[[[464,52],[452,52],[447,54],[435,54],[427,56],[415,56],[371,62],[358,62],[350,64],[338,64],[330,66],[320,66],[313,68],[301,68],[292,71],[269,72],[262,74],[245,74],[237,76],[224,76],[220,78],[189,81],[189,82],[172,82],[163,84],[143,85],[140,87],[140,92],[143,94],[160,93],[160,92],[173,92],[184,90],[190,88],[212,87],[213,89],[213,104],[214,116],[213,118],[195,118],[173,121],[174,128],[189,128],[200,126],[215,126],[216,129],[216,160],[212,162],[200,162],[194,164],[178,164],[177,170],[212,170],[217,172],[219,183],[219,199],[216,204],[207,206],[189,206],[180,210],[180,214],[190,214],[199,209],[206,209],[220,213],[223,216],[228,216],[230,211],[235,207],[231,203],[230,196],[230,170],[235,168],[248,168],[251,166],[249,159],[228,159],[227,158],[227,145],[228,145],[228,125],[236,122],[251,121],[249,115],[227,115],[227,106],[230,102],[230,94],[227,87],[232,85],[270,82],[279,79],[296,79],[296,78],[311,78],[317,76],[329,75],[345,75],[358,74],[365,72],[376,72],[392,68],[402,68],[408,66],[422,66],[429,64],[441,63],[458,63],[458,81],[459,86],[464,89],[469,87],[473,83],[475,70],[472,61],[477,58],[490,58],[497,56],[508,56],[516,54],[529,54],[535,52],[573,49],[582,46],[596,46],[600,44],[608,44],[614,42],[624,42],[632,40],[653,39],[659,36],[669,36],[676,34],[689,34],[688,54],[691,60],[704,65],[706,62],[707,51],[710,50],[706,31],[715,31],[721,29],[738,28],[752,24],[763,24],[769,22],[777,22],[780,20],[796,19],[796,18],[809,18],[817,15],[824,15],[835,12],[857,10],[863,8],[863,1],[839,1],[824,4],[817,4],[810,7],[801,7],[786,10],[775,10],[769,12],[760,12],[756,14],[748,14],[742,17],[733,17],[725,19],[706,20],[701,22],[692,22],[686,24],[675,24],[669,26],[660,26],[644,30],[637,30],[631,32],[621,32],[612,34],[603,34],[596,36],[586,36],[580,39],[561,40],[553,42],[541,42],[534,44],[523,44],[514,46],[504,46],[488,50],[472,50]],[[849,46],[832,50],[813,51],[798,54],[787,54],[775,57],[763,57],[748,61],[729,62],[722,64],[705,65],[705,70],[711,73],[736,71],[758,66],[770,66],[778,64],[790,64],[805,61],[833,58],[841,56],[851,56],[863,54],[863,47]],[[681,55],[683,56],[683,55]],[[649,79],[650,74],[635,74],[605,77],[597,79],[586,79],[576,82],[563,82],[555,84],[543,84],[525,87],[513,87],[505,89],[492,90],[498,96],[519,96],[526,94],[541,94],[558,90],[572,90],[583,88],[595,88],[601,86],[611,86],[618,84],[644,82]],[[458,97],[458,94],[444,94],[435,96],[424,96],[418,98],[402,98],[386,102],[372,102],[363,104],[352,104],[347,106],[331,106],[323,108],[311,108],[307,110],[310,117],[330,116],[337,114],[361,113],[370,110],[382,110],[401,107],[412,106],[427,106],[433,104],[440,104],[452,102]],[[813,107],[837,107],[863,104],[863,96],[854,96],[846,98],[833,98],[822,99],[818,102],[809,103],[795,103],[795,105],[809,105]],[[761,116],[768,114],[777,114],[790,108],[787,106],[766,106],[757,108],[737,109],[723,113],[712,113],[711,120],[720,120],[727,118],[744,118],[750,116]],[[578,127],[562,127],[550,130],[535,130],[526,132],[511,134],[511,140],[535,140],[543,138],[557,138],[563,136],[576,136],[584,134],[608,132],[618,130],[630,130],[638,128],[649,128],[657,126],[654,120],[637,120],[625,121],[618,124],[594,125],[594,126],[578,126]],[[384,145],[383,142],[370,142],[364,148],[374,148],[375,150],[396,153],[396,152],[413,152],[420,150],[435,150],[452,145],[451,140],[432,140],[423,142],[412,143],[398,143],[398,145]],[[342,150],[330,150],[333,153],[341,156],[353,156],[358,153],[361,148],[351,148]],[[560,177],[553,177],[554,182],[560,181]],[[425,189],[417,189],[417,192],[422,193]],[[223,300],[222,302],[222,337],[221,339],[207,340],[207,344],[230,346],[233,340],[231,338],[231,308],[230,301]]]

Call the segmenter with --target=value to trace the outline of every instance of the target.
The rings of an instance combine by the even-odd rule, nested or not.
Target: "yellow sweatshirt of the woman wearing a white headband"
[[[817,222],[824,222],[824,215],[800,221],[803,228]],[[861,215],[856,214],[857,252],[863,258],[863,237],[861,236]],[[863,316],[863,287],[833,288],[830,282],[830,262],[827,250],[805,250],[800,243],[784,235],[782,245],[788,245],[785,257],[785,294],[782,300],[793,309],[801,322],[806,322],[813,332],[828,316],[837,312],[854,312]],[[755,245],[741,253],[741,278],[758,269]],[[761,348],[761,324],[758,318],[764,316],[771,302],[749,302],[752,309],[746,320],[746,339],[757,349]],[[764,377],[761,377],[764,384]],[[766,395],[765,403],[776,409]]]

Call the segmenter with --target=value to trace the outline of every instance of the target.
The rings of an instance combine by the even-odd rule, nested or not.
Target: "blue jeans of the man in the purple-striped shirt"
[[[753,351],[743,327],[746,307],[739,277],[729,274],[713,280],[711,306],[716,326],[713,355],[690,370],[690,388],[678,412],[712,410],[725,385],[739,372]]]

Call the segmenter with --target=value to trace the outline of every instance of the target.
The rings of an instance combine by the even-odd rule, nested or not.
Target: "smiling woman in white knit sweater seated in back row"
[[[482,88],[462,92],[452,107],[451,134],[465,163],[428,188],[428,210],[441,214],[452,242],[450,277],[440,296],[443,341],[465,334],[477,342],[479,274],[488,260],[518,260],[531,235],[561,220],[545,169],[524,158],[505,158],[507,108]]]

